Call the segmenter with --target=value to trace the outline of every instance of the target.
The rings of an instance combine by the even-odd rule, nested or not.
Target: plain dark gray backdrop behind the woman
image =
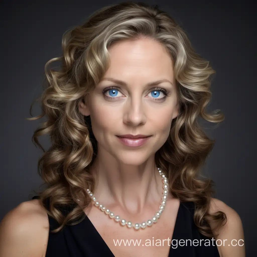
[[[93,11],[119,1],[5,1],[1,4],[0,219],[30,199],[41,184],[31,142],[38,121],[27,121],[41,93],[44,65],[61,54],[62,34]],[[256,27],[250,1],[146,1],[158,4],[187,31],[194,48],[217,71],[208,110],[220,108],[225,121],[206,129],[216,139],[204,173],[216,182],[216,198],[240,215],[246,256],[256,238]],[[193,3],[192,3],[193,2]],[[253,2],[252,2],[253,3]],[[35,106],[33,115],[39,114]],[[41,140],[47,145],[47,139]],[[255,254],[254,254],[255,252]]]

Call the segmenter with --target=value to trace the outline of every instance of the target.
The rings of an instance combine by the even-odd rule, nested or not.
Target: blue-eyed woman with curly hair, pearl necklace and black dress
[[[214,141],[197,118],[224,117],[206,112],[215,71],[182,28],[126,2],[65,33],[62,47],[31,118],[47,117],[33,135],[39,146],[51,136],[46,188],[2,220],[1,256],[245,256],[240,217],[199,176]],[[61,69],[47,69],[56,60]]]

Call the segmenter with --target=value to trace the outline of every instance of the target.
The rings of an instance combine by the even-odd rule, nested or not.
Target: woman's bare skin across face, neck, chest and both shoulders
[[[90,115],[93,133],[98,142],[98,156],[90,170],[98,175],[95,197],[115,214],[132,223],[150,218],[159,207],[162,181],[157,174],[154,153],[167,140],[173,118],[178,115],[178,97],[173,74],[173,62],[159,43],[151,39],[122,41],[109,48],[111,65],[104,78],[96,86],[88,100],[79,103],[79,111]],[[106,78],[122,80],[124,85],[115,84]],[[160,79],[156,86],[146,84]],[[109,90],[118,89],[114,98],[106,98]],[[151,92],[163,88],[168,96],[156,101]],[[157,98],[162,98],[163,93]],[[86,100],[86,99],[85,99]],[[152,135],[142,146],[124,146],[116,135]],[[115,225],[98,208],[85,209],[90,221],[102,236],[115,256],[167,256],[169,246],[163,247],[115,247],[113,238],[171,238],[179,200],[169,195],[166,208],[153,229],[135,233]],[[228,222],[219,231],[221,240],[244,239],[239,215],[222,201],[212,198],[210,212],[222,210]],[[215,227],[211,224],[213,231]],[[216,231],[214,231],[216,232]],[[38,200],[26,201],[8,212],[0,224],[1,257],[43,257],[48,242],[49,223],[45,210]],[[137,234],[137,235],[135,235]],[[241,242],[242,243],[242,242]],[[243,257],[244,246],[218,247],[221,257]]]

